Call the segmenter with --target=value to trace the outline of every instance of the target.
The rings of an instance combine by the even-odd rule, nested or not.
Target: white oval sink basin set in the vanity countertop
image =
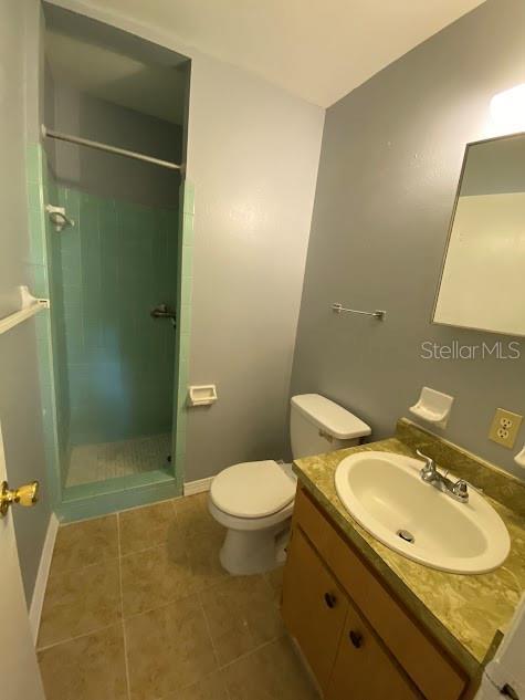
[[[496,511],[472,488],[468,503],[454,501],[422,481],[422,467],[401,455],[358,452],[337,467],[337,494],[365,530],[420,564],[456,574],[500,566],[511,540]]]

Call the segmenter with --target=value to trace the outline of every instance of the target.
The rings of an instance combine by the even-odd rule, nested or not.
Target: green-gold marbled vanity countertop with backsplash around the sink
[[[487,574],[441,572],[398,554],[368,534],[337,497],[337,464],[355,452],[380,450],[414,457],[416,447],[484,490],[511,535],[511,553]],[[396,437],[294,462],[300,482],[326,510],[377,574],[471,675],[493,656],[525,592],[525,483],[428,433],[398,422]]]

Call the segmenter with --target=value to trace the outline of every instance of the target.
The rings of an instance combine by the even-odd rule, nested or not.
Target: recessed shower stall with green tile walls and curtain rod
[[[189,61],[165,50],[145,61],[124,32],[112,46],[98,23],[45,8],[43,190],[67,503],[176,479]]]

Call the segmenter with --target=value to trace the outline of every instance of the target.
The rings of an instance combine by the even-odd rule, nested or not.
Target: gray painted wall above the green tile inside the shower
[[[45,85],[50,128],[180,163],[181,126],[60,85],[49,69]],[[177,171],[64,142],[45,143],[54,175],[63,185],[151,207],[178,206]]]

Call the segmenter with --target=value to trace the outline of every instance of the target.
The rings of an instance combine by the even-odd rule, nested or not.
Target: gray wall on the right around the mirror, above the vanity
[[[496,407],[525,412],[525,344],[506,362],[421,359],[420,345],[512,339],[430,316],[465,143],[494,135],[491,97],[524,81],[524,27],[522,0],[489,0],[327,111],[292,382],[353,409],[372,439],[423,385],[452,394],[444,436],[515,473],[486,436]],[[387,318],[337,316],[336,301]]]

